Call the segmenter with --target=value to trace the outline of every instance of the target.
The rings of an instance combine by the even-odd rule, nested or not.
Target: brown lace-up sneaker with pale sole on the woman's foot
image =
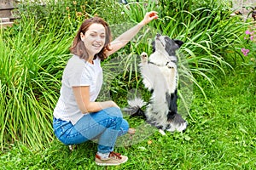
[[[100,166],[111,166],[111,165],[120,165],[121,163],[125,163],[128,160],[127,156],[121,156],[121,154],[116,152],[110,152],[108,158],[102,159],[101,156],[96,154],[96,165]]]

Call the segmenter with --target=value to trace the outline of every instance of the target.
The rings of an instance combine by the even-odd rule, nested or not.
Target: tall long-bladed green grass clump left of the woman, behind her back
[[[12,30],[1,30],[0,37],[2,147],[16,140],[42,146],[52,139],[52,111],[71,43],[71,37],[59,34],[65,27],[56,29],[54,22],[44,34],[33,18],[20,20]]]

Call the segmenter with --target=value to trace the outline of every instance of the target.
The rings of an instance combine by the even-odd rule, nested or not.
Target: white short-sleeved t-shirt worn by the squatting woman
[[[102,88],[101,59],[93,60],[94,64],[73,55],[67,61],[61,81],[61,95],[55,106],[55,118],[70,121],[73,124],[79,121],[84,114],[73,95],[73,87],[90,86],[90,101],[95,101]]]

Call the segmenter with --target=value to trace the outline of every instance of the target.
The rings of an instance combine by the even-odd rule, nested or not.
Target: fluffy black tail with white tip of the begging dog
[[[128,115],[130,116],[141,116],[143,119],[146,120],[146,115],[144,111],[142,110],[142,107],[144,105],[147,105],[147,103],[140,98],[130,99],[127,101],[128,106],[123,109]]]

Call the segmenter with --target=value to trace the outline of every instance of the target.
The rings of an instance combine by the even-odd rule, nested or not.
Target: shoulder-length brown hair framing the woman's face
[[[105,31],[106,31],[106,41],[105,41],[104,47],[102,48],[102,50],[98,54],[96,54],[94,56],[94,59],[96,59],[96,57],[98,56],[101,60],[104,60],[108,57],[105,52],[107,50],[108,51],[111,50],[109,48],[109,43],[112,41],[112,36],[111,36],[111,31],[110,31],[110,28],[108,26],[108,23],[105,20],[103,20],[102,18],[97,17],[97,16],[92,17],[92,18],[87,19],[87,20],[84,20],[84,22],[82,23],[82,25],[79,28],[79,31],[77,32],[76,37],[74,37],[74,39],[73,39],[73,45],[70,48],[70,52],[72,54],[78,55],[81,59],[86,60],[86,59],[89,58],[88,53],[86,51],[86,48],[84,46],[84,42],[82,42],[82,40],[81,40],[80,34],[81,34],[81,32],[84,34],[88,30],[89,26],[94,24],[94,23],[102,24],[102,26],[104,26]]]

